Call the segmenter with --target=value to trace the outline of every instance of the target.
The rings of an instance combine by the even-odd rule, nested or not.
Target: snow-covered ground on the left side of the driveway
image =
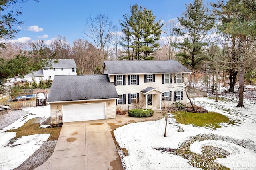
[[[5,132],[13,128],[19,128],[29,119],[36,117],[50,117],[50,106],[29,107],[24,109],[27,114],[11,125],[0,130],[0,169],[12,170],[29,158],[38,150],[50,134],[34,134],[18,138],[14,143],[8,144],[16,136],[16,132]]]

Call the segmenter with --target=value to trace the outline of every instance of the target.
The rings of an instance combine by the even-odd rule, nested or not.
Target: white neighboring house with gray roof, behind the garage
[[[52,68],[46,67],[34,73],[27,74],[22,79],[26,79],[28,81],[35,80],[36,83],[39,83],[40,78],[44,81],[49,79],[53,80],[55,75],[76,75],[76,63],[74,59],[58,59],[58,63],[52,62]],[[22,79],[19,77],[12,77],[7,80],[15,83]]]

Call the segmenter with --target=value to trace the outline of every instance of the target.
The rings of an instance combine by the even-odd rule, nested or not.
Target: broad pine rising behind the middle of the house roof
[[[161,20],[155,22],[152,11],[138,4],[130,6],[130,12],[119,21],[124,33],[121,44],[126,48],[122,59],[152,60],[154,52],[160,49],[156,41],[160,39],[163,24]]]

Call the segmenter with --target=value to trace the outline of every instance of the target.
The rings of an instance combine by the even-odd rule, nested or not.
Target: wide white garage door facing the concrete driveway
[[[105,119],[105,103],[62,105],[63,122]]]

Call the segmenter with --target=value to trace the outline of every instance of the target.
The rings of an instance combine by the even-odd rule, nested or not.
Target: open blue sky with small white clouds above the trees
[[[47,42],[60,35],[72,44],[78,38],[86,39],[82,32],[90,15],[107,14],[120,28],[119,20],[123,19],[123,14],[130,14],[130,5],[138,4],[152,10],[156,20],[168,21],[180,16],[189,2],[193,0],[29,0],[23,4],[23,14],[18,20],[24,24],[14,40]]]

